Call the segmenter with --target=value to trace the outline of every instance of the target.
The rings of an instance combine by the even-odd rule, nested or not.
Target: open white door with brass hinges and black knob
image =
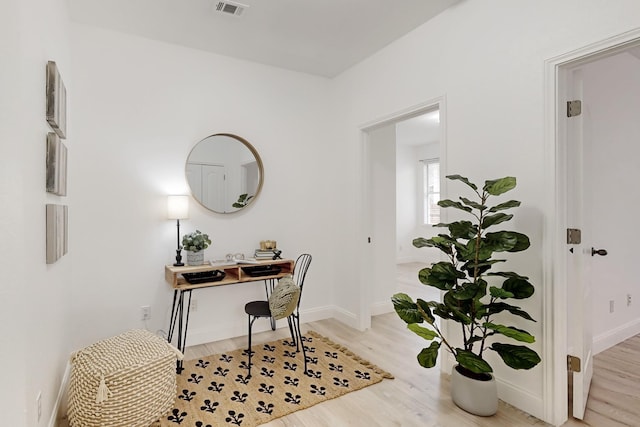
[[[567,70],[566,77],[566,100],[582,100],[582,70]],[[581,230],[580,243],[569,244],[566,252],[569,295],[568,351],[571,356],[580,360],[580,368],[572,370],[573,416],[579,419],[584,417],[593,376],[592,287],[589,275],[585,274],[591,261],[591,247],[587,244],[591,237],[584,218],[584,117],[584,114],[580,114],[559,118],[565,121],[567,132],[567,226]]]

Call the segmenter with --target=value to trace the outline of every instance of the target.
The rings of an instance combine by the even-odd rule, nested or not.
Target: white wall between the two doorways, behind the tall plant
[[[349,165],[361,171],[358,129],[363,124],[446,97],[447,173],[474,181],[518,178],[511,196],[523,206],[510,225],[529,235],[532,246],[510,256],[510,267],[537,286],[522,308],[540,320],[544,286],[553,286],[542,283],[542,232],[553,215],[542,187],[545,173],[553,170],[544,152],[544,61],[638,26],[635,0],[462,2],[335,80],[337,105],[345,106],[336,112],[343,166],[337,170]],[[352,168],[344,175],[343,203],[358,194],[361,177]],[[449,184],[443,193],[460,189]],[[344,217],[345,226],[357,229],[363,213],[356,209]],[[340,246],[359,253],[361,240],[348,237]],[[344,268],[340,273],[355,274]],[[520,326],[537,337],[534,347],[542,353],[543,325],[524,323]],[[492,362],[500,397],[544,418],[545,362],[525,372],[511,371],[495,358]]]

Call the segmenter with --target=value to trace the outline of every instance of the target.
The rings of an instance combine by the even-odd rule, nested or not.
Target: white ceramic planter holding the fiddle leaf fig
[[[461,409],[483,417],[498,412],[498,387],[491,376],[481,381],[462,375],[454,366],[451,371],[451,398]]]

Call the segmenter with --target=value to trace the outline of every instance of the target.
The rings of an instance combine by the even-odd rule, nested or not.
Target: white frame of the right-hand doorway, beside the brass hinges
[[[567,380],[567,73],[581,63],[640,43],[640,29],[610,37],[545,61],[545,187],[548,220],[543,230],[543,405],[545,421],[559,426],[568,419]]]

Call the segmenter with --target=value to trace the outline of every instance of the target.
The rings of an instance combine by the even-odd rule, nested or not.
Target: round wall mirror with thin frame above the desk
[[[186,173],[193,197],[217,213],[237,212],[252,203],[264,175],[255,148],[228,133],[198,142],[187,157]]]

